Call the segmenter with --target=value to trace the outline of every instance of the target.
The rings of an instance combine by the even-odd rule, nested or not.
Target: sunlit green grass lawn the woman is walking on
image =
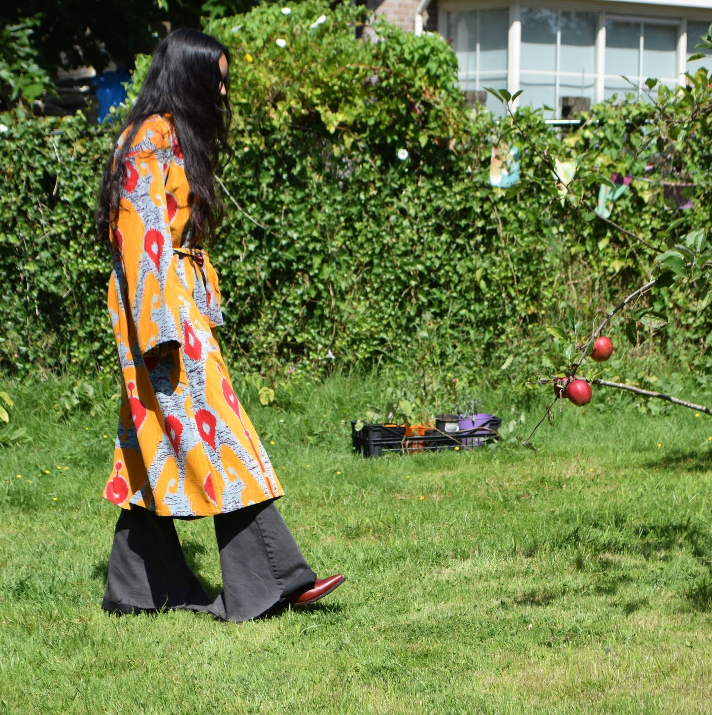
[[[117,405],[60,420],[67,384],[11,385],[31,441],[0,448],[1,713],[712,713],[705,415],[643,415],[602,390],[599,408],[543,425],[535,453],[367,460],[347,420],[377,386],[330,380],[282,410],[248,400],[297,542],[348,580],[234,624],[100,610]],[[485,405],[505,425],[523,409]],[[178,528],[217,593],[212,520]]]

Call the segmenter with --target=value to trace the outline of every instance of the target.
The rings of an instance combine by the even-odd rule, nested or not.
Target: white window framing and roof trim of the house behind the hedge
[[[605,74],[605,25],[606,21],[632,21],[643,24],[663,24],[675,25],[678,28],[678,38],[676,46],[676,67],[678,71],[678,83],[685,83],[685,71],[687,64],[687,56],[691,54],[688,51],[688,33],[687,23],[704,22],[712,24],[712,1],[706,3],[708,6],[703,7],[703,2],[700,0],[688,0],[692,6],[683,6],[678,1],[671,4],[653,4],[650,2],[638,1],[635,4],[631,2],[615,2],[612,0],[588,0],[583,2],[570,2],[569,0],[531,0],[531,1],[510,1],[498,2],[496,0],[485,0],[478,2],[476,0],[439,0],[438,3],[438,31],[442,36],[447,37],[448,30],[448,12],[463,12],[472,10],[493,10],[493,9],[509,9],[509,33],[508,33],[508,48],[507,48],[507,89],[511,94],[515,94],[520,89],[521,84],[521,43],[522,43],[522,24],[521,24],[521,9],[523,6],[530,8],[545,8],[559,11],[576,11],[576,12],[593,12],[598,14],[598,26],[595,36],[594,52],[595,52],[595,92],[594,102],[603,101],[605,96],[605,80],[607,77],[620,77],[615,74]],[[640,9],[640,14],[631,14],[633,9]],[[692,46],[696,44],[696,39],[692,41]],[[559,43],[558,43],[559,45]],[[558,51],[560,49],[558,48]],[[692,50],[693,51],[693,50]],[[643,54],[641,52],[640,60],[642,62]],[[558,64],[558,63],[557,63]],[[478,65],[479,66],[479,65]],[[712,68],[711,68],[712,69]],[[641,79],[638,84],[646,79],[642,77],[642,69],[639,68]],[[666,78],[672,79],[672,78]],[[556,73],[556,83],[558,87],[559,73]],[[631,87],[631,89],[633,89]],[[556,93],[557,102],[559,94]],[[519,100],[515,101],[515,106],[519,104]],[[560,107],[555,107],[556,113],[560,112]]]

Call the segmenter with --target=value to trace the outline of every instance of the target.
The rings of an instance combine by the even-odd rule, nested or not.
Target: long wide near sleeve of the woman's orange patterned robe
[[[165,139],[165,147],[162,140]],[[164,184],[167,137],[132,147],[124,162],[124,187],[114,235],[127,298],[142,355],[181,345],[177,277]]]

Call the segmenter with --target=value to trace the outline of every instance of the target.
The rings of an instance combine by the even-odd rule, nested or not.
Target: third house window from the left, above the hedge
[[[605,98],[641,92],[648,77],[677,82],[676,24],[611,19],[605,24]],[[629,81],[626,81],[626,79]]]

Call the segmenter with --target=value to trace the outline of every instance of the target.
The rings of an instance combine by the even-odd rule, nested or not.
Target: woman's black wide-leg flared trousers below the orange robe
[[[187,608],[225,621],[257,618],[316,574],[272,501],[214,517],[223,591],[210,601],[185,561],[174,519],[122,509],[102,608],[113,613]]]

